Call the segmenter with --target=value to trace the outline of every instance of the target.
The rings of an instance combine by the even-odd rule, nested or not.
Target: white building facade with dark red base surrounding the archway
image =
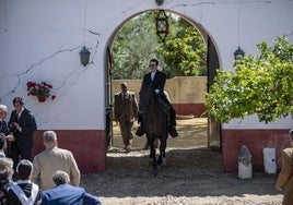
[[[150,10],[166,10],[194,24],[208,45],[209,76],[218,68],[232,68],[238,46],[258,55],[257,44],[286,35],[293,41],[291,0],[1,0],[0,1],[0,104],[13,109],[21,96],[36,117],[34,154],[42,150],[42,134],[55,130],[60,146],[73,152],[83,172],[106,169],[106,110],[109,96],[108,48],[119,28]],[[83,67],[79,52],[89,48]],[[52,85],[56,99],[38,102],[27,96],[26,83]],[[228,124],[209,120],[210,145],[219,146],[224,171],[235,171],[239,147],[246,144],[254,167],[261,169],[263,147],[288,146],[292,119],[263,124],[255,117]]]

